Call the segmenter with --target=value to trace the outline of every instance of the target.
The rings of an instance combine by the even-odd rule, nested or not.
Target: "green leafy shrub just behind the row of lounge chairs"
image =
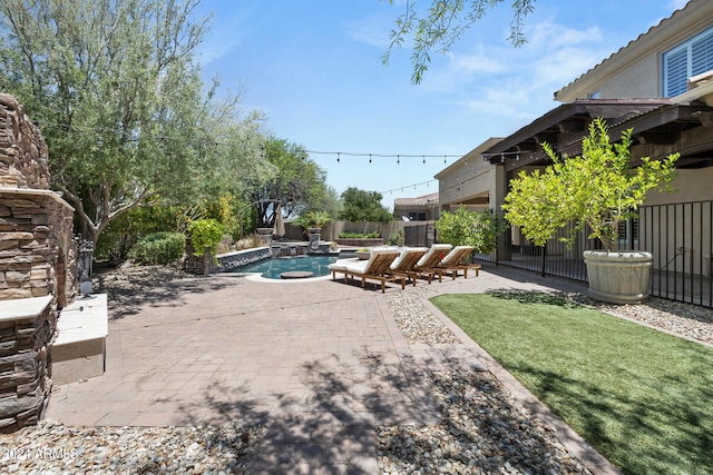
[[[442,212],[434,226],[439,241],[472,246],[476,253],[492,251],[498,246],[498,237],[509,227],[489,210],[473,212],[466,207],[458,208],[456,212]]]

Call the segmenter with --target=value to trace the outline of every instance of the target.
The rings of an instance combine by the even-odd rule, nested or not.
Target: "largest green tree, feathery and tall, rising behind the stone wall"
[[[141,204],[198,201],[260,168],[257,118],[201,80],[197,3],[0,0],[0,81],[39,122],[51,185],[95,243]]]

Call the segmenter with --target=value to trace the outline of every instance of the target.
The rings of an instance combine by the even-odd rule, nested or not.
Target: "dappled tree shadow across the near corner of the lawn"
[[[668,395],[635,397],[603,390],[586,377],[569,378],[528,364],[509,370],[516,376],[536,376],[538,384],[529,389],[625,473],[670,473],[673,467],[682,473],[704,473],[713,467],[713,417],[699,404],[713,397],[706,384],[688,387],[688,397],[673,394],[673,389]],[[660,387],[685,384],[690,383],[671,375]],[[611,437],[617,427],[621,434]]]

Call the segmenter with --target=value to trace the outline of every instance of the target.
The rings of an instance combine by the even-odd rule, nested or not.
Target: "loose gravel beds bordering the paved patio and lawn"
[[[191,289],[193,276],[166,267],[130,266],[96,275],[95,288],[129,311],[130,296],[157,281]],[[426,309],[424,287],[387,296],[406,339],[457,344],[456,336]],[[606,306],[578,294],[574,301],[713,343],[713,310],[652,298],[643,305]],[[551,431],[534,418],[490,373],[427,373],[443,419],[433,426],[377,428],[383,474],[569,474],[589,473]],[[43,420],[0,435],[0,472],[75,473],[245,473],[264,432],[261,427],[66,427]]]

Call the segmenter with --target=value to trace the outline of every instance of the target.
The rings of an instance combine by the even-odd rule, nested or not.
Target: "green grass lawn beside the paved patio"
[[[546,294],[432,303],[625,473],[713,473],[712,348]]]

